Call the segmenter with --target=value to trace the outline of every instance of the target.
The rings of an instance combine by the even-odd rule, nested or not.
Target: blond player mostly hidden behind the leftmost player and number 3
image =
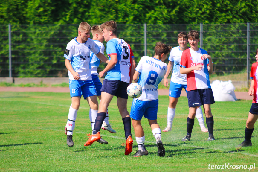
[[[104,52],[104,50],[105,50],[105,47],[103,45],[104,37],[102,36],[103,31],[100,28],[100,26],[98,26],[98,25],[92,26],[91,33],[92,33],[92,40],[100,47],[101,52]],[[97,68],[99,67],[100,63],[101,63],[100,59],[97,58],[97,56],[91,51],[91,78],[92,78],[94,85],[96,87],[96,90],[97,90],[97,97],[101,100],[100,89],[102,87],[102,83],[100,82],[99,74],[97,72]],[[92,127],[92,131],[93,131],[97,114],[94,113],[95,116],[92,116],[92,115],[93,114],[90,115],[90,121],[91,121],[91,127]],[[116,133],[116,131],[112,129],[111,124],[109,124],[108,110],[107,110],[106,118],[104,119],[101,128],[103,130],[109,131],[110,133]]]

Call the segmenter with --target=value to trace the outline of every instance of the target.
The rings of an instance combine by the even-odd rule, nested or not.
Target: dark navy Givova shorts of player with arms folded
[[[214,104],[214,97],[212,89],[195,89],[187,91],[188,106],[196,107],[204,104]]]

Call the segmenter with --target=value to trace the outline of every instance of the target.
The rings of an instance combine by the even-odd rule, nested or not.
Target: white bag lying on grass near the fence
[[[235,87],[233,86],[231,80],[219,81],[215,80],[211,84],[211,89],[213,91],[213,96],[215,101],[236,101]]]

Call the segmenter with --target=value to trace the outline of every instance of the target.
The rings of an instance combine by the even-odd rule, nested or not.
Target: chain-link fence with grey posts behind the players
[[[63,53],[67,43],[77,36],[77,28],[78,25],[0,25],[0,77],[66,77]],[[199,47],[213,58],[211,78],[248,80],[258,48],[258,23],[118,25],[117,36],[131,45],[138,62],[143,55],[154,55],[156,42],[178,46],[178,33],[190,30],[199,31]],[[99,70],[104,67],[101,64]]]

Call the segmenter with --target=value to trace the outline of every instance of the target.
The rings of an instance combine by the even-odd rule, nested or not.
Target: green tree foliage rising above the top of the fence
[[[0,24],[258,22],[258,0],[1,0]]]

